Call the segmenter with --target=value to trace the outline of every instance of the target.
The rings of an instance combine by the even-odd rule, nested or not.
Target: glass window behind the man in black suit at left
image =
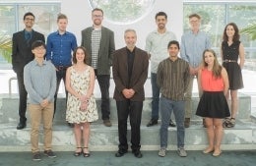
[[[12,36],[24,28],[23,17],[27,12],[35,16],[33,29],[47,35],[56,29],[59,3],[0,4],[0,69],[11,69]]]

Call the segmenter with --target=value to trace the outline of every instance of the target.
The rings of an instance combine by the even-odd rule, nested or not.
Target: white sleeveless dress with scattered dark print
[[[74,67],[71,67],[70,71],[70,83],[72,88],[79,93],[86,94],[90,85],[90,68],[87,67],[83,73],[78,73]],[[69,123],[80,124],[85,122],[94,122],[98,119],[96,98],[94,95],[89,99],[87,110],[81,111],[80,106],[81,101],[79,98],[68,93],[66,121]]]

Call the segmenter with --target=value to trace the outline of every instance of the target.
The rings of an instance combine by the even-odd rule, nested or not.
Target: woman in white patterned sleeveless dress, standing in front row
[[[68,90],[66,121],[74,124],[76,139],[75,156],[89,157],[90,123],[98,119],[94,69],[86,64],[87,52],[84,47],[77,47],[73,53],[73,65],[66,74],[66,88]],[[83,145],[82,141],[83,139]]]

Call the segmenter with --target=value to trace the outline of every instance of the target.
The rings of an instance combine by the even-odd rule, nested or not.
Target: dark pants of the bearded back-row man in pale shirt
[[[152,84],[152,115],[151,118],[159,120],[160,87],[157,83],[157,74],[151,73]]]

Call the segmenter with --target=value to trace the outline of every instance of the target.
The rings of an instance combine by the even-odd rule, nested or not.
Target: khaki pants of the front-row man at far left
[[[31,141],[32,141],[32,153],[39,151],[38,139],[39,129],[42,119],[43,134],[44,134],[44,150],[51,149],[52,141],[52,118],[53,118],[54,104],[49,103],[46,107],[41,107],[39,104],[29,104],[29,111],[31,115]]]

